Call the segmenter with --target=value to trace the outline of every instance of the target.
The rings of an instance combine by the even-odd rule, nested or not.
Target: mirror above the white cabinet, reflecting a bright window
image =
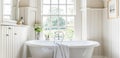
[[[2,0],[3,22],[12,22],[19,19],[19,0]]]

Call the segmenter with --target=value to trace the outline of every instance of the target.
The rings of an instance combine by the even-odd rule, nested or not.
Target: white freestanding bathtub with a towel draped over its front
[[[26,42],[30,49],[32,58],[53,58],[52,41],[32,40]],[[91,58],[95,47],[99,46],[95,41],[68,41],[62,42],[69,47],[70,58]]]

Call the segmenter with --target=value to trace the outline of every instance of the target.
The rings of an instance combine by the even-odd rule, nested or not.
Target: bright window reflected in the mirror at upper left
[[[12,0],[3,0],[3,19],[11,19],[12,14]]]

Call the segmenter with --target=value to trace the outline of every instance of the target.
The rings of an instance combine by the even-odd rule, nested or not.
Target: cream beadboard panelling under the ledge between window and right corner
[[[103,56],[102,14],[102,9],[88,9],[88,40],[98,41],[101,44],[101,46],[95,48],[95,56]]]

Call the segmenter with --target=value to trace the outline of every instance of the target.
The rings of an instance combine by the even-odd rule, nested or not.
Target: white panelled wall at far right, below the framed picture
[[[120,18],[108,19],[107,9],[104,10],[103,32],[105,56],[120,58]]]

